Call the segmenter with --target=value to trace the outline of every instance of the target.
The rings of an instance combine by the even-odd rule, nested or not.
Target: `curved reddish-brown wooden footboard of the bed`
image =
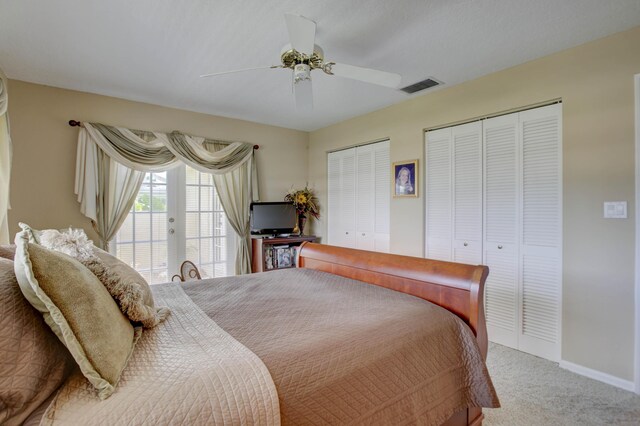
[[[305,242],[298,267],[353,278],[435,303],[460,317],[473,331],[482,356],[487,357],[484,283],[489,268],[395,254],[376,253]],[[482,410],[470,407],[444,424],[482,423]]]

